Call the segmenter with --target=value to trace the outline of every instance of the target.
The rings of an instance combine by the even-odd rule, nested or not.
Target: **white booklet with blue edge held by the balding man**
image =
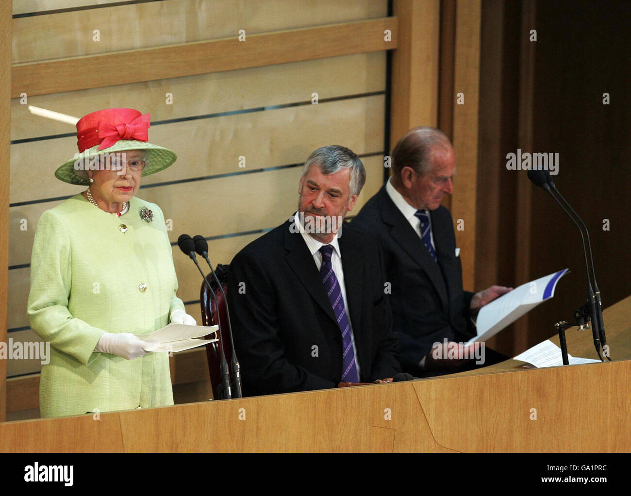
[[[558,280],[568,269],[551,273],[529,283],[522,284],[509,293],[500,296],[478,312],[476,321],[477,336],[471,338],[467,344],[485,341],[495,336],[505,327],[515,322],[519,317],[528,313],[537,305],[554,296]]]

